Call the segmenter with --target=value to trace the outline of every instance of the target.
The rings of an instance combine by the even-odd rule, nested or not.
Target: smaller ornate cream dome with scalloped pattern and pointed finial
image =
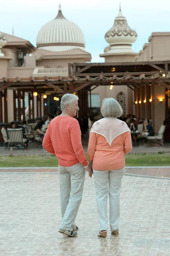
[[[104,49],[104,52],[133,52],[131,46],[136,39],[137,34],[128,26],[127,19],[122,14],[120,7],[114,25],[105,34],[105,40],[109,46]]]

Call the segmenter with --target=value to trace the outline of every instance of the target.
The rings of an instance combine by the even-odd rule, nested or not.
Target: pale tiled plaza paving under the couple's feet
[[[69,238],[58,233],[61,223],[58,173],[2,171],[0,256],[170,256],[168,177],[125,174],[120,233],[112,236],[108,232],[107,238],[99,238],[94,179],[86,174],[76,219],[78,236]]]

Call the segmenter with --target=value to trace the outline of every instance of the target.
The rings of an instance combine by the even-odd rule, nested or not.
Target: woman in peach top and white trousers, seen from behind
[[[108,190],[110,229],[114,235],[118,234],[121,180],[125,171],[125,154],[131,151],[132,142],[127,124],[117,119],[123,110],[115,99],[104,99],[101,113],[104,118],[95,122],[90,131],[88,157],[95,178],[100,221],[98,236],[106,237]]]

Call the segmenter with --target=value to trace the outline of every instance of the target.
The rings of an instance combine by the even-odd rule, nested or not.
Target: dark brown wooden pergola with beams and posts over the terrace
[[[65,93],[77,93],[80,99],[79,117],[88,114],[88,93],[99,85],[127,85],[135,91],[135,97],[141,93],[145,85],[159,84],[170,89],[170,61],[145,61],[145,62],[123,62],[123,63],[73,63],[69,64],[68,77],[29,77],[0,79],[0,122],[8,120],[7,89],[13,90],[14,119],[16,119],[16,98],[18,99],[18,120],[21,120],[21,99],[25,93],[29,95],[29,118],[31,118],[30,101],[33,92],[37,92],[37,116],[41,116],[41,94],[51,91],[58,95]],[[4,98],[4,100],[2,100]],[[46,99],[43,99],[43,103]],[[4,106],[3,106],[4,104]],[[39,107],[38,107],[39,106]],[[46,113],[45,104],[44,113]],[[91,96],[90,96],[91,106]],[[23,100],[23,119],[25,119],[25,104]],[[48,114],[48,113],[46,113]],[[34,101],[32,100],[32,117],[34,116]]]

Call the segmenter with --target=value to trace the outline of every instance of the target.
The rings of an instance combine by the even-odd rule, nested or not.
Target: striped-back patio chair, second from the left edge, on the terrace
[[[24,144],[26,143],[27,139],[23,139],[23,129],[7,129],[8,137],[9,137],[9,147],[13,146],[20,146],[24,148]]]

